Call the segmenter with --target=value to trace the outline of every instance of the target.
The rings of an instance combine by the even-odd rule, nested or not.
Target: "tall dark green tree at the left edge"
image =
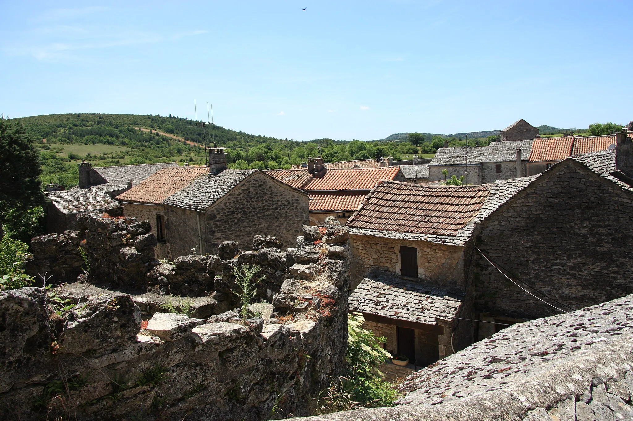
[[[0,239],[6,223],[44,201],[38,179],[42,170],[32,140],[22,124],[0,118]]]

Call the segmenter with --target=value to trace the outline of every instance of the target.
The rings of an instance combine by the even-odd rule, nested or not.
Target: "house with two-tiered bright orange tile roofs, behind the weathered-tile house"
[[[327,165],[322,158],[311,158],[307,169],[265,172],[310,194],[310,225],[322,225],[327,216],[345,223],[380,180],[405,180],[398,166],[337,169]]]

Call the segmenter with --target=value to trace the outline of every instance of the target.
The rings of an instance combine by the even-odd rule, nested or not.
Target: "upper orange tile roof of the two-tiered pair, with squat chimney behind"
[[[314,177],[307,169],[265,172],[291,187],[305,191],[371,190],[379,180],[393,180],[401,174],[400,167],[326,169],[323,177]]]

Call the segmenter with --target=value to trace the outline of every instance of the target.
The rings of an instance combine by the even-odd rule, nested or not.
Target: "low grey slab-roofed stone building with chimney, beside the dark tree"
[[[115,203],[118,194],[136,186],[154,172],[177,167],[175,162],[92,167],[89,162],[78,163],[79,185],[69,190],[46,191],[46,231],[64,232],[77,227],[77,215],[82,212],[103,211]]]

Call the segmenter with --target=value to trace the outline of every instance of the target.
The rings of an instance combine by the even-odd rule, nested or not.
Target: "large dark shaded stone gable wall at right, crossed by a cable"
[[[631,199],[566,163],[486,218],[477,245],[508,276],[566,311],[622,297],[633,292]],[[520,290],[479,252],[474,256],[476,311],[519,319],[560,313]]]

